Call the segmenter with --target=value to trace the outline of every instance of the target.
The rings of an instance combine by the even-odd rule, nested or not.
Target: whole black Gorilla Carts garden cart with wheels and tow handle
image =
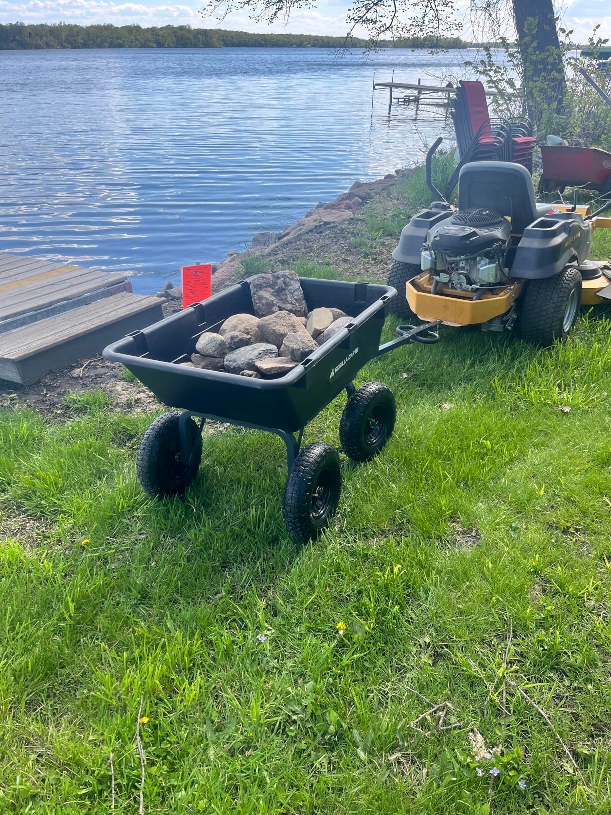
[[[178,495],[196,477],[206,420],[265,430],[282,438],[287,449],[284,522],[297,540],[310,540],[336,511],[341,465],[328,444],[301,448],[307,423],[345,390],[340,438],[346,456],[367,461],[385,447],[396,416],[393,393],[381,382],[367,382],[357,390],[353,378],[370,359],[393,348],[437,342],[438,321],[399,326],[398,337],[380,346],[386,308],[396,289],[312,278],[299,282],[310,311],[334,306],[354,320],[283,377],[255,379],[179,364],[190,359],[201,333],[218,330],[231,315],[253,314],[248,280],[104,350],[107,359],[123,363],[158,399],[182,411],[154,421],[139,447],[138,480],[150,496]]]

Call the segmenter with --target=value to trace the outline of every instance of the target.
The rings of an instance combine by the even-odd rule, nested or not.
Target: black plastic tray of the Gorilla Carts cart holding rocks
[[[205,331],[217,331],[235,314],[254,314],[249,280],[240,280],[204,302],[189,306],[107,346],[106,359],[121,362],[161,402],[236,424],[295,433],[378,355],[391,286],[300,278],[309,311],[333,306],[354,320],[277,379],[191,368],[187,362]]]

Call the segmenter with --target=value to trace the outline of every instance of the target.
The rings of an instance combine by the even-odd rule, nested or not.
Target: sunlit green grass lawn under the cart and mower
[[[394,437],[307,546],[277,438],[204,434],[156,504],[153,416],[0,414],[0,813],[137,813],[142,778],[168,815],[611,811],[609,312],[543,351],[446,329],[377,379]]]

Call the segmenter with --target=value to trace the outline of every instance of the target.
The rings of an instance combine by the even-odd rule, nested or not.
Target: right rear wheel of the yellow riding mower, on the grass
[[[543,280],[529,280],[521,297],[520,336],[538,346],[565,341],[578,318],[581,301],[582,275],[574,267]]]

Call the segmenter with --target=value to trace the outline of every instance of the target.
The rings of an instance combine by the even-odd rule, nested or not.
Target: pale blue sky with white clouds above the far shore
[[[240,31],[274,31],[277,33],[345,34],[347,0],[319,0],[316,11],[301,11],[292,15],[288,24],[278,23],[269,28],[253,23],[246,15],[232,15],[220,27]],[[138,23],[147,25],[184,25],[194,28],[213,28],[213,20],[202,20],[198,10],[202,2],[182,0],[170,5],[163,0],[0,0],[0,22],[13,23],[114,23],[116,25]],[[468,6],[468,0],[459,0],[460,9]],[[564,0],[564,20],[574,29],[574,38],[585,42],[596,24],[600,24],[600,36],[611,39],[611,9],[609,0]],[[464,29],[469,36],[468,25]]]

